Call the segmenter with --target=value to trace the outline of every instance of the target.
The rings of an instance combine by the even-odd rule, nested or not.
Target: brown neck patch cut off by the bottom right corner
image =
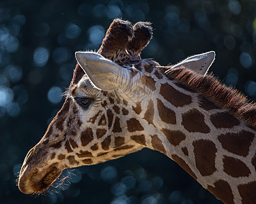
[[[242,197],[242,203],[256,203],[256,182],[238,186],[238,191]]]

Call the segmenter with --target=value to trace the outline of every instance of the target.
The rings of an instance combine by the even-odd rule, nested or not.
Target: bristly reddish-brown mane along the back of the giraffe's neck
[[[199,75],[186,67],[171,69],[171,67],[158,67],[158,70],[168,78],[177,80],[183,86],[187,86],[206,97],[219,107],[229,109],[235,116],[256,127],[256,103],[246,97],[232,86],[221,84],[217,78],[209,75]]]

